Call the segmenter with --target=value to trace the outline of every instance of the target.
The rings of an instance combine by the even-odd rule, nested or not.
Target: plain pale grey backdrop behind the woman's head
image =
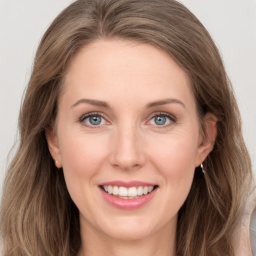
[[[70,2],[0,0],[0,194],[7,154],[18,139],[17,116],[36,47],[49,23]],[[200,19],[220,49],[256,173],[256,0],[181,2]]]

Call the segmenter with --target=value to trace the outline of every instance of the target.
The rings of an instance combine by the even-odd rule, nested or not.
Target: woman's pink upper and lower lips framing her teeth
[[[156,193],[157,187],[155,189],[153,189],[150,193],[145,194],[145,195],[141,195],[138,198],[134,198],[134,199],[123,199],[123,198],[119,198],[113,194],[108,194],[107,192],[105,192],[103,189],[100,188],[100,186],[103,185],[116,185],[116,186],[125,186],[125,187],[138,187],[138,186],[153,186],[155,184],[152,183],[147,183],[147,182],[141,182],[141,181],[120,181],[120,180],[116,180],[116,181],[110,181],[110,182],[104,182],[99,184],[99,189],[100,192],[103,196],[103,198],[105,199],[105,201],[107,203],[109,203],[111,206],[114,206],[116,208],[119,209],[126,209],[126,210],[132,210],[132,209],[138,209],[141,206],[143,206],[144,204],[146,204],[147,202],[149,202],[153,196]]]

